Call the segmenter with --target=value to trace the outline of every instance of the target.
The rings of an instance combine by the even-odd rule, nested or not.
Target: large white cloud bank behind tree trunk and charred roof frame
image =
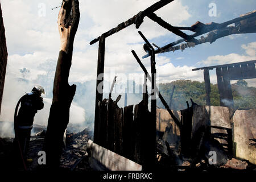
[[[94,80],[96,78],[98,47],[97,43],[89,46],[90,40],[97,38],[110,28],[116,27],[119,23],[133,17],[155,2],[158,0],[80,1],[80,24],[74,43],[69,81]],[[57,60],[59,53],[59,32],[57,30],[59,8],[51,9],[59,6],[61,1],[44,1],[46,16],[43,17],[38,15],[39,3],[42,1],[1,1],[9,51],[9,70],[7,71],[19,75],[20,68],[30,69],[28,77],[30,79],[35,79],[37,74],[42,73],[42,70],[38,69],[40,63],[47,59]],[[180,25],[191,16],[188,13],[188,7],[183,6],[180,0],[171,2],[155,13],[174,26]],[[170,34],[169,31],[147,17],[144,18],[139,30],[147,39]],[[107,38],[105,72],[108,73],[111,69],[115,69],[117,74],[141,73],[142,70],[134,59],[131,49],[134,49],[141,57],[144,55],[143,43],[135,25]],[[150,59],[143,59],[142,61],[149,68]],[[166,57],[157,56],[157,64],[160,66],[169,61]]]

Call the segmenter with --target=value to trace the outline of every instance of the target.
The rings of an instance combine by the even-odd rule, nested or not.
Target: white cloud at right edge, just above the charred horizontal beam
[[[230,53],[229,55],[209,56],[206,60],[202,60],[197,64],[204,64],[204,65],[229,64],[229,63],[238,63],[242,61],[250,61],[250,60],[256,59],[256,42],[251,42],[247,45],[243,44],[241,47],[245,51],[245,53],[242,55],[238,53]]]

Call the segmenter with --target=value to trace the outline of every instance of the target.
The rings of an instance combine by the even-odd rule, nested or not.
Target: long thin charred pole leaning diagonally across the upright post
[[[145,73],[145,75],[147,75],[148,80],[150,80],[152,82],[152,78],[150,75],[148,75],[147,69],[144,67],[144,65],[142,64],[141,60],[139,59],[139,57],[137,56],[137,54],[135,53],[135,51],[131,51],[135,57],[135,59],[137,60],[137,62],[139,63],[139,65],[141,66],[143,72]],[[164,100],[162,94],[159,92],[158,87],[155,87],[156,90],[156,94],[158,94],[158,97],[160,98],[160,101],[163,103],[164,107],[166,107],[166,110],[168,111],[168,113],[171,115],[172,119],[174,119],[174,122],[176,123],[176,125],[180,128],[180,122],[179,120],[175,117],[174,113],[172,113],[170,107],[168,106],[167,102]]]

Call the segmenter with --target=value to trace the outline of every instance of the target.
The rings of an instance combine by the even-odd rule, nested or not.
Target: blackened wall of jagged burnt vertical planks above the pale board
[[[143,98],[148,99],[147,96]],[[143,169],[153,168],[156,159],[155,123],[147,102],[141,101],[133,113],[133,105],[119,108],[119,99],[120,96],[115,101],[104,99],[99,107],[98,144],[142,164]]]

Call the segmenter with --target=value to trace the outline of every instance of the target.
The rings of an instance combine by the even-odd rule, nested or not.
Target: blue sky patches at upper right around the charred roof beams
[[[184,26],[191,26],[192,24],[200,21],[202,23],[222,23],[228,20],[237,18],[241,14],[248,13],[256,9],[255,1],[181,1],[183,5],[189,7],[188,12],[191,14],[191,18],[184,20]],[[217,16],[210,17],[208,12],[210,8],[208,7],[210,2],[214,2],[217,5]],[[193,32],[187,32],[188,34],[193,34]],[[167,40],[166,37],[170,37],[170,40]],[[162,36],[160,39],[156,38],[156,43],[159,46],[164,46],[169,42],[175,41],[174,37],[171,35]],[[175,36],[176,38],[177,36]],[[200,60],[205,60],[209,56],[214,55],[228,55],[230,53],[243,54],[244,50],[241,48],[242,44],[248,44],[256,41],[255,34],[241,34],[235,38],[225,37],[216,40],[216,42],[210,44],[205,43],[194,48],[188,48],[185,51],[176,51],[175,53],[165,53],[166,56],[172,57],[174,60],[172,63],[177,65],[196,65]],[[164,42],[164,43],[163,43]],[[183,60],[176,60],[178,57],[184,57]],[[239,61],[239,60],[238,60]],[[200,65],[199,65],[200,66]]]

